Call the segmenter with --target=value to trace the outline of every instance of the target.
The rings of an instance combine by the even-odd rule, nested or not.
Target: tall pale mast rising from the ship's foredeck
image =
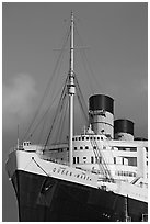
[[[74,96],[74,20],[73,12],[71,12],[71,25],[70,25],[70,61],[69,61],[69,164],[72,166],[72,152],[73,152],[73,96]]]

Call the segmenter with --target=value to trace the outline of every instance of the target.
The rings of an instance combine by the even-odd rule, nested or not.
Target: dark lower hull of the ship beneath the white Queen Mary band
[[[125,221],[125,198],[113,192],[25,171],[16,171],[12,182],[20,221]],[[147,203],[128,199],[131,221],[141,221],[147,213]]]

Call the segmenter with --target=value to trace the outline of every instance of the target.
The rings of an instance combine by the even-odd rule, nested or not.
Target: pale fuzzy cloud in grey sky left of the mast
[[[11,130],[24,122],[34,110],[37,96],[35,80],[27,74],[13,77],[11,83],[3,83],[2,113],[3,130]]]

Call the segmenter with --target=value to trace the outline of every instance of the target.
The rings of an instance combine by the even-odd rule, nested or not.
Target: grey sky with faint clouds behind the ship
[[[4,164],[16,144],[18,124],[23,134],[41,102],[71,10],[78,38],[88,47],[89,75],[82,66],[74,66],[85,101],[92,93],[112,97],[115,119],[132,121],[135,136],[148,137],[147,7],[146,2],[2,3],[3,221],[18,221],[15,194]],[[74,59],[82,60],[78,53]],[[62,65],[55,80],[58,89],[67,72]]]

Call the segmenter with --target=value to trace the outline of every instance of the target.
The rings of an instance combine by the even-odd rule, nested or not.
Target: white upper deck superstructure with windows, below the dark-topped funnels
[[[148,178],[148,142],[116,141],[105,135],[81,134],[73,138],[73,166],[104,176],[104,169],[114,179],[131,181],[140,176]],[[22,149],[38,152],[45,159],[69,161],[67,143],[50,146],[24,143]]]

